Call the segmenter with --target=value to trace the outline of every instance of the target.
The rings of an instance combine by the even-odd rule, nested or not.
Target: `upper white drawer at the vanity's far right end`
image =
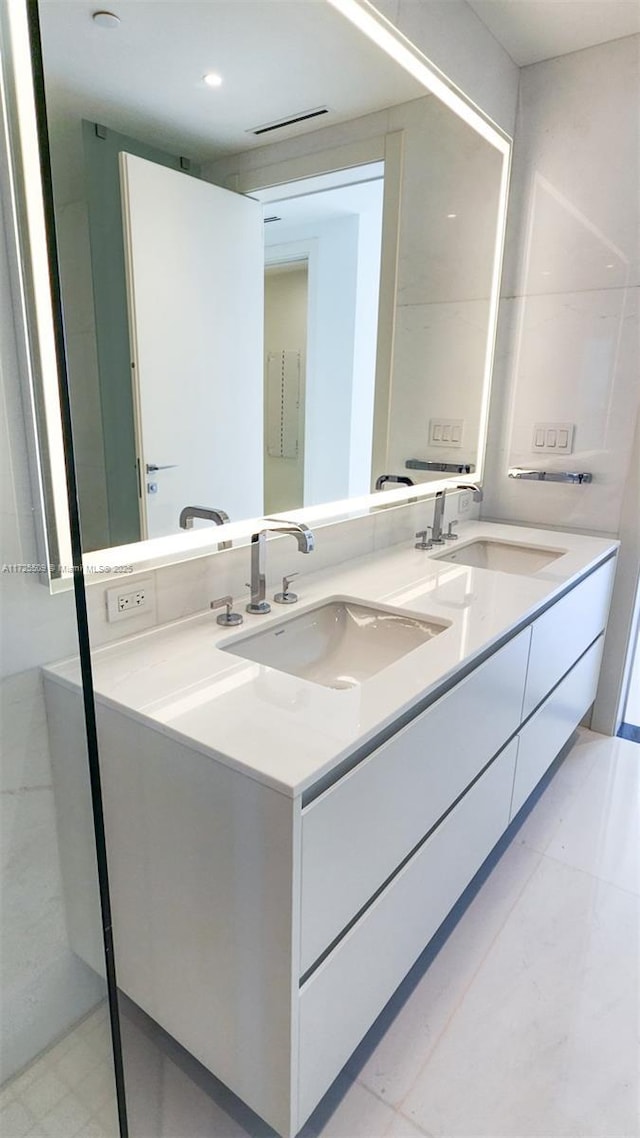
[[[612,558],[534,621],[523,718],[604,630],[614,574]]]

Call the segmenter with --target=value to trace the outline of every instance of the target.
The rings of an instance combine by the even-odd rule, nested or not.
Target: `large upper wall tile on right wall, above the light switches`
[[[523,68],[506,295],[638,283],[639,41]]]

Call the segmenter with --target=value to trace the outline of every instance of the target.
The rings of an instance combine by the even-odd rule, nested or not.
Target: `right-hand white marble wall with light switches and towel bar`
[[[597,729],[612,708],[640,560],[639,38],[525,67],[483,517],[623,539]],[[534,455],[533,422],[576,424],[575,453]],[[591,486],[507,478],[592,471]]]

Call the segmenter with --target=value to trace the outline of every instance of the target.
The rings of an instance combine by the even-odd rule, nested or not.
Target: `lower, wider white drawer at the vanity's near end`
[[[301,1125],[507,827],[516,751],[512,740],[302,987]]]

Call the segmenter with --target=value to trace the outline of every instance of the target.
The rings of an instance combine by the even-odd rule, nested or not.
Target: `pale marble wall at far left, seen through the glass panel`
[[[0,561],[38,562],[27,428],[0,216]],[[0,1082],[102,996],[67,943],[39,665],[77,651],[71,593],[0,572]]]

